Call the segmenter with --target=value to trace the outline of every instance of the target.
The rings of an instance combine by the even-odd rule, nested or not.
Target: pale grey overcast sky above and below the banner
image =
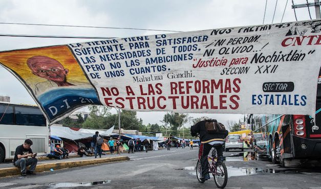
[[[285,0],[278,1],[273,23],[281,22]],[[314,1],[309,0],[313,3]],[[142,28],[175,31],[197,31],[225,27],[261,25],[265,0],[246,1],[5,1],[0,2],[0,22]],[[271,23],[276,0],[267,2],[264,23]],[[305,0],[294,0],[304,4]],[[292,1],[288,1],[283,22],[295,21]],[[314,7],[310,8],[315,19]],[[308,20],[307,8],[296,9],[298,20]],[[0,34],[130,37],[168,32],[44,27],[0,24]],[[1,37],[0,51],[34,48],[57,44],[91,41],[90,39]],[[7,70],[0,68],[0,95],[10,96],[11,103],[35,104],[27,90]],[[144,124],[159,123],[165,112],[138,112]],[[192,114],[208,116],[223,124],[238,121],[240,114]],[[189,126],[190,124],[186,124]]]

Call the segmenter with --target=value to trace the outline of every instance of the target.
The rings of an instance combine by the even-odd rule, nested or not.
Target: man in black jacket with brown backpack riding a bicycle
[[[195,124],[190,128],[192,136],[200,136],[201,146],[199,150],[199,160],[202,167],[201,180],[208,180],[208,163],[207,155],[215,147],[218,153],[218,159],[224,160],[223,158],[223,144],[224,138],[228,135],[228,131],[225,130],[223,124],[218,123],[216,120],[203,120]]]

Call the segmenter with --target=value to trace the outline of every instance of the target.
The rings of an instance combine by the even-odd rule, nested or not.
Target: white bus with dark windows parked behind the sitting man
[[[37,106],[0,103],[0,162],[12,159],[17,146],[30,138],[32,151],[50,153],[49,126]]]

